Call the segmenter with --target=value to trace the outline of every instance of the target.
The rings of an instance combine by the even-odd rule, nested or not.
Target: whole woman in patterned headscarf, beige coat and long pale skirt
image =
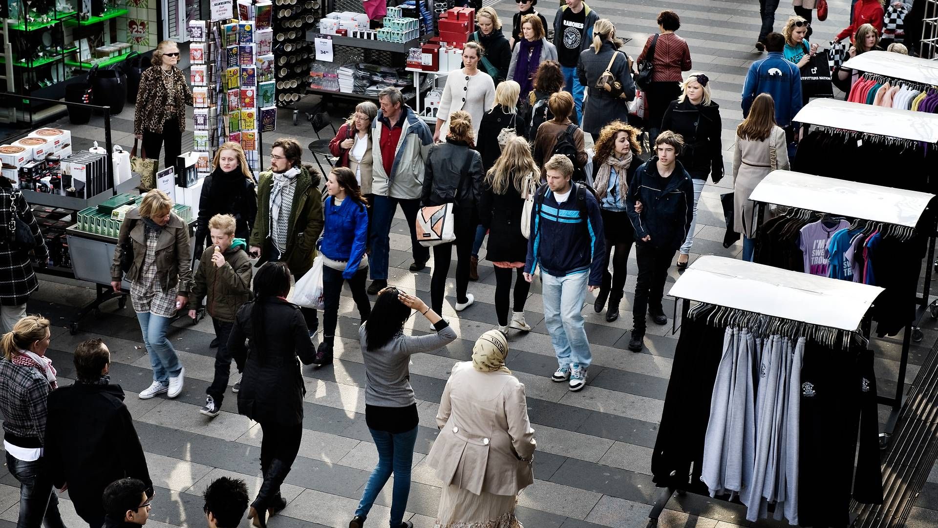
[[[428,463],[444,484],[434,526],[516,528],[518,492],[534,482],[537,443],[524,385],[505,366],[505,334],[490,330],[472,361],[453,366]]]

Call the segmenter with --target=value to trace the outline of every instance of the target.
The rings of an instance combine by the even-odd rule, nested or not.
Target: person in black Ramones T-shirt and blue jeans
[[[573,107],[578,126],[582,122],[583,86],[577,74],[580,54],[593,44],[593,24],[599,15],[582,0],[566,0],[553,16],[553,45],[557,48],[557,61],[564,72],[564,90],[573,96]]]

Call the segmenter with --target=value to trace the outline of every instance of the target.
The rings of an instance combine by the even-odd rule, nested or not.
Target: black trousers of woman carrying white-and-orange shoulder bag
[[[472,258],[472,244],[476,241],[478,219],[471,210],[454,210],[453,221],[453,234],[456,235],[456,241],[433,246],[430,302],[431,308],[437,314],[443,313],[446,275],[449,273],[449,259],[453,255],[453,245],[456,245],[456,302],[468,301],[466,290],[469,289],[469,260]]]

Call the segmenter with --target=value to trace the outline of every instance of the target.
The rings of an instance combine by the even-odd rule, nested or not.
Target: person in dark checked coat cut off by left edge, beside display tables
[[[36,241],[32,251],[37,264],[45,266],[49,260],[49,251],[33,210],[23,198],[23,193],[13,189],[8,179],[0,178],[0,225],[15,223],[16,218],[29,227]],[[5,236],[12,235],[8,231]],[[0,323],[3,325],[0,331],[10,332],[16,321],[26,316],[26,301],[38,287],[29,250],[16,249],[7,241],[0,240]]]

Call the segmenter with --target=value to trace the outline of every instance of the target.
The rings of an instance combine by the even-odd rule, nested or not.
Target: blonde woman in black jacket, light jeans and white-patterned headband
[[[709,79],[703,73],[691,73],[681,85],[683,93],[671,101],[661,119],[661,131],[672,131],[684,137],[684,148],[678,161],[684,165],[694,184],[694,220],[687,241],[677,256],[677,268],[688,267],[690,247],[697,224],[697,204],[701,199],[707,175],[714,183],[723,178],[723,154],[720,132],[719,104],[710,100]]]

